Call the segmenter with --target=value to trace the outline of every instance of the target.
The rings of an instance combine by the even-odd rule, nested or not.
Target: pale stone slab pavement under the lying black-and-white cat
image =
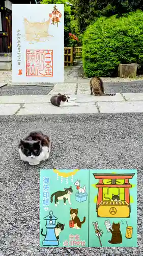
[[[76,98],[79,106],[57,108],[51,95],[65,93]],[[90,95],[89,83],[57,83],[47,95],[0,96],[0,115],[142,113],[143,93],[117,93],[116,96]]]

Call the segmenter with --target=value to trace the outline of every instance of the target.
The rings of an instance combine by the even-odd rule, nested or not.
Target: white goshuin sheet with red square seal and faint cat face
[[[12,5],[12,81],[64,82],[64,5]]]

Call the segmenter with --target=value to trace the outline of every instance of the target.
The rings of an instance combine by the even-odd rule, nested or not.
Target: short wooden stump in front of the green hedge
[[[123,77],[136,77],[136,71],[137,71],[137,63],[131,63],[131,64],[119,64],[119,76],[121,78]]]

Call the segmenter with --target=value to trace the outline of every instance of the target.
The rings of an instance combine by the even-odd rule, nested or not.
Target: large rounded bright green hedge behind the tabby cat
[[[117,75],[119,63],[143,68],[143,12],[98,18],[83,34],[82,58],[88,77]]]

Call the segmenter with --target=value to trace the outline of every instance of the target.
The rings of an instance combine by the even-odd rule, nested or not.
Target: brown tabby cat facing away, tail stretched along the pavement
[[[103,81],[100,77],[95,76],[91,78],[90,80],[90,89],[91,89],[91,95],[94,94],[96,96],[114,96],[116,95],[115,92],[113,93],[105,93],[104,87],[103,87]]]

